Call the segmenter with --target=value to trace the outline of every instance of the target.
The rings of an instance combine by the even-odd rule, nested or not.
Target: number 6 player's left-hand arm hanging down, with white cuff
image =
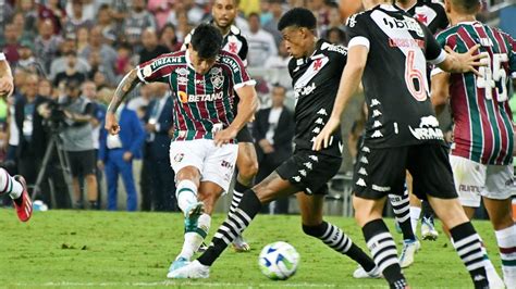
[[[347,102],[360,85],[368,53],[369,40],[367,38],[356,37],[349,41],[347,59],[353,61],[348,61],[344,66],[330,120],[314,141],[312,150],[320,151],[330,144],[331,135],[340,126]]]

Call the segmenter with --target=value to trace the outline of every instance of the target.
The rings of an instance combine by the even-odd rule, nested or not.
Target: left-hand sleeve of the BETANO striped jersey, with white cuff
[[[179,56],[171,53],[161,54],[136,66],[138,78],[144,83],[168,83],[167,77],[172,73]]]

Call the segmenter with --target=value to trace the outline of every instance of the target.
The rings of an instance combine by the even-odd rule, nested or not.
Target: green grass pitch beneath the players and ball
[[[224,215],[214,215],[211,234]],[[168,280],[167,271],[183,243],[177,213],[91,211],[35,212],[28,224],[13,210],[0,210],[0,287],[35,288],[386,288],[383,279],[356,280],[356,264],[305,236],[299,216],[258,215],[244,236],[253,250],[226,250],[209,279]],[[365,249],[354,219],[327,217]],[[396,241],[393,221],[388,219]],[[475,222],[490,257],[500,272],[494,233],[488,222]],[[440,226],[439,226],[440,227]],[[287,241],[300,254],[299,268],[286,281],[261,275],[258,254],[273,241]],[[400,250],[400,246],[398,246]],[[413,288],[471,288],[469,275],[441,233],[438,241],[422,241],[416,263],[405,269]]]

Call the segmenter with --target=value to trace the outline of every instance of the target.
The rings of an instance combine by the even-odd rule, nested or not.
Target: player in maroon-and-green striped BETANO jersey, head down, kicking
[[[186,51],[168,53],[138,65],[119,85],[106,116],[106,129],[118,134],[115,112],[134,86],[162,81],[174,91],[174,134],[170,163],[176,199],[185,215],[185,240],[171,269],[188,262],[208,234],[217,200],[228,191],[237,154],[235,137],[253,117],[257,100],[241,59],[221,51],[222,35],[209,24],[197,26]],[[234,93],[241,99],[232,111]]]

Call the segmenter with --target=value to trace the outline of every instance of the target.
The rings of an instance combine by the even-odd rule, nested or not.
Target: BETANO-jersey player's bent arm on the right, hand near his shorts
[[[241,86],[235,91],[239,98],[238,113],[228,128],[216,134],[214,142],[217,146],[228,143],[234,139],[244,125],[251,121],[258,108],[258,97],[254,85]]]

